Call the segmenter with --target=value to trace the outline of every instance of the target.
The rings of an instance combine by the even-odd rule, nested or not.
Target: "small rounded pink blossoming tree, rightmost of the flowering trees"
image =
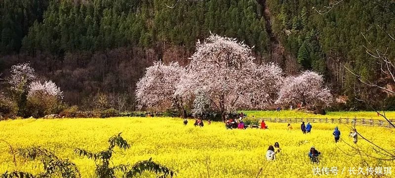
[[[330,90],[323,85],[322,76],[312,71],[287,77],[278,95],[277,104],[303,103],[307,107],[322,107],[333,102]]]

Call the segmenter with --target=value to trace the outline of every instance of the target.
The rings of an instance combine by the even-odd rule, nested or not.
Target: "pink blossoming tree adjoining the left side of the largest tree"
[[[136,98],[139,107],[163,111],[173,106],[179,107],[179,97],[174,95],[176,85],[185,69],[177,62],[168,65],[156,62],[148,67],[143,78],[137,83]]]

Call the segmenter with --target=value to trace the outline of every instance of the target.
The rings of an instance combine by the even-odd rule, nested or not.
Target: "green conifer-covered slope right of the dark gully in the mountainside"
[[[333,8],[327,8],[326,0],[268,0],[267,4],[273,12],[273,31],[302,68],[324,74],[338,94],[385,96],[356,83],[344,66],[367,80],[388,84],[380,69],[385,64],[366,50],[387,50],[386,57],[394,61],[394,1],[344,0]]]

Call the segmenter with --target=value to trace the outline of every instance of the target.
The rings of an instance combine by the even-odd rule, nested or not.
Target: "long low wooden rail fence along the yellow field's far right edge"
[[[376,127],[393,127],[386,120],[364,119],[364,118],[259,118],[259,120],[274,123],[333,123],[333,124],[352,124],[353,120],[357,126],[376,126]],[[389,119],[394,123],[394,119]]]

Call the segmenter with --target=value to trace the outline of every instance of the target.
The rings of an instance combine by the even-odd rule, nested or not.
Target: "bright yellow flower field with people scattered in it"
[[[311,134],[302,134],[300,124],[287,131],[286,124],[267,123],[269,130],[226,130],[220,122],[194,127],[194,120],[184,126],[179,118],[110,118],[110,119],[25,119],[0,122],[0,139],[14,148],[41,146],[61,158],[76,163],[82,178],[94,176],[95,164],[74,153],[75,148],[100,151],[106,148],[110,136],[122,132],[131,148],[118,150],[114,164],[135,163],[150,157],[177,170],[176,178],[354,178],[395,177],[393,161],[378,161],[366,156],[351,155],[354,144],[349,126],[312,124]],[[341,140],[335,143],[333,129],[338,126]],[[395,149],[395,130],[378,127],[357,127],[360,134],[378,145]],[[266,161],[269,145],[279,142],[281,152],[275,161]],[[314,145],[321,152],[320,163],[311,164],[307,153]],[[359,137],[356,145],[364,153],[380,157],[370,144]],[[37,164],[19,157],[12,161],[7,144],[0,141],[0,173],[5,171],[40,172]],[[262,171],[260,171],[262,170]],[[258,175],[259,173],[259,175]],[[337,173],[337,175],[336,175]],[[361,174],[365,175],[361,175]],[[326,175],[327,174],[327,175]],[[359,174],[359,175],[358,175]],[[372,174],[372,175],[370,175]],[[155,175],[145,173],[144,178]]]

